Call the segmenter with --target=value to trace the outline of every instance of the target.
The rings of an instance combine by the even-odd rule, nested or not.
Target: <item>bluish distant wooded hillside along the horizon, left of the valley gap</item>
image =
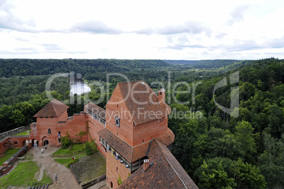
[[[161,60],[119,59],[0,59],[0,77],[54,73],[124,73],[170,66]]]

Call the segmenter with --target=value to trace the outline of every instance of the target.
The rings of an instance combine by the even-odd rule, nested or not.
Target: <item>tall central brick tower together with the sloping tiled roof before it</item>
[[[157,95],[143,81],[118,83],[106,105],[106,127],[98,133],[110,188],[197,188],[170,152],[170,112],[165,90]]]

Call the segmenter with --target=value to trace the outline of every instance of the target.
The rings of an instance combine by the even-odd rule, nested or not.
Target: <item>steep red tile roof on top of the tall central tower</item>
[[[158,95],[144,81],[117,85],[136,126],[170,114],[170,106],[159,103]]]

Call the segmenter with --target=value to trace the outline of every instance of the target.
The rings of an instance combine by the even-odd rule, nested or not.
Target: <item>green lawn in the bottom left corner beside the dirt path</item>
[[[8,188],[9,185],[24,187],[31,185],[31,183],[37,183],[37,180],[34,178],[37,171],[40,171],[40,168],[35,161],[18,162],[18,165],[11,173],[0,179],[1,188]],[[44,173],[40,183],[42,182],[51,183],[52,180]]]

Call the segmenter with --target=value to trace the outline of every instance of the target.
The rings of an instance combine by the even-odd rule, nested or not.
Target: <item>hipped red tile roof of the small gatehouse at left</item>
[[[58,117],[63,114],[69,106],[66,106],[57,99],[52,100],[45,105],[34,117]]]

